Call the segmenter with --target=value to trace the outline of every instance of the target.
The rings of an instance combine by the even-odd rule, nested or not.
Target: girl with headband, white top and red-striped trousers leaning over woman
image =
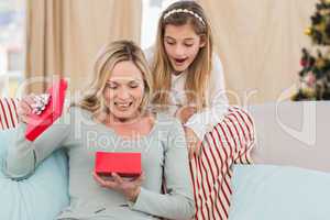
[[[170,4],[160,18],[152,53],[153,103],[185,127],[196,218],[227,219],[231,165],[249,163],[253,122],[246,112],[228,106],[222,66],[202,8],[194,1]]]

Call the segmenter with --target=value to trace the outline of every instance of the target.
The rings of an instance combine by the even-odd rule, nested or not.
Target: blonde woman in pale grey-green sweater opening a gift
[[[58,219],[190,219],[195,207],[184,130],[174,118],[146,110],[153,87],[142,51],[127,41],[108,45],[94,77],[82,100],[34,142],[24,138],[33,98],[19,103],[21,124],[7,173],[25,178],[52,152],[65,147],[70,206]],[[134,180],[117,174],[101,178],[94,173],[98,151],[141,153],[143,175]]]

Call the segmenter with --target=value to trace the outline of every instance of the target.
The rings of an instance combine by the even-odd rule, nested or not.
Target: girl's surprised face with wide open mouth
[[[191,24],[165,26],[164,47],[175,72],[186,70],[204,45],[205,42]]]

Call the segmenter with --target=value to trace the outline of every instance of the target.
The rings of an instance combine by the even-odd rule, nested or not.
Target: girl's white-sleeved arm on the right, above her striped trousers
[[[226,96],[223,68],[217,55],[213,55],[213,68],[207,95],[209,97],[209,107],[201,112],[193,114],[185,123],[185,127],[190,128],[200,141],[204,140],[205,134],[213,125],[221,121],[229,106]]]

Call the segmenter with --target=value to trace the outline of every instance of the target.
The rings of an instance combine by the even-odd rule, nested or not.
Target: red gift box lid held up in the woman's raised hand
[[[65,91],[67,82],[59,79],[53,82],[53,86],[47,89],[51,95],[46,108],[41,114],[32,114],[29,119],[25,138],[29,141],[34,141],[41,133],[51,127],[56,119],[58,119],[63,111]]]

